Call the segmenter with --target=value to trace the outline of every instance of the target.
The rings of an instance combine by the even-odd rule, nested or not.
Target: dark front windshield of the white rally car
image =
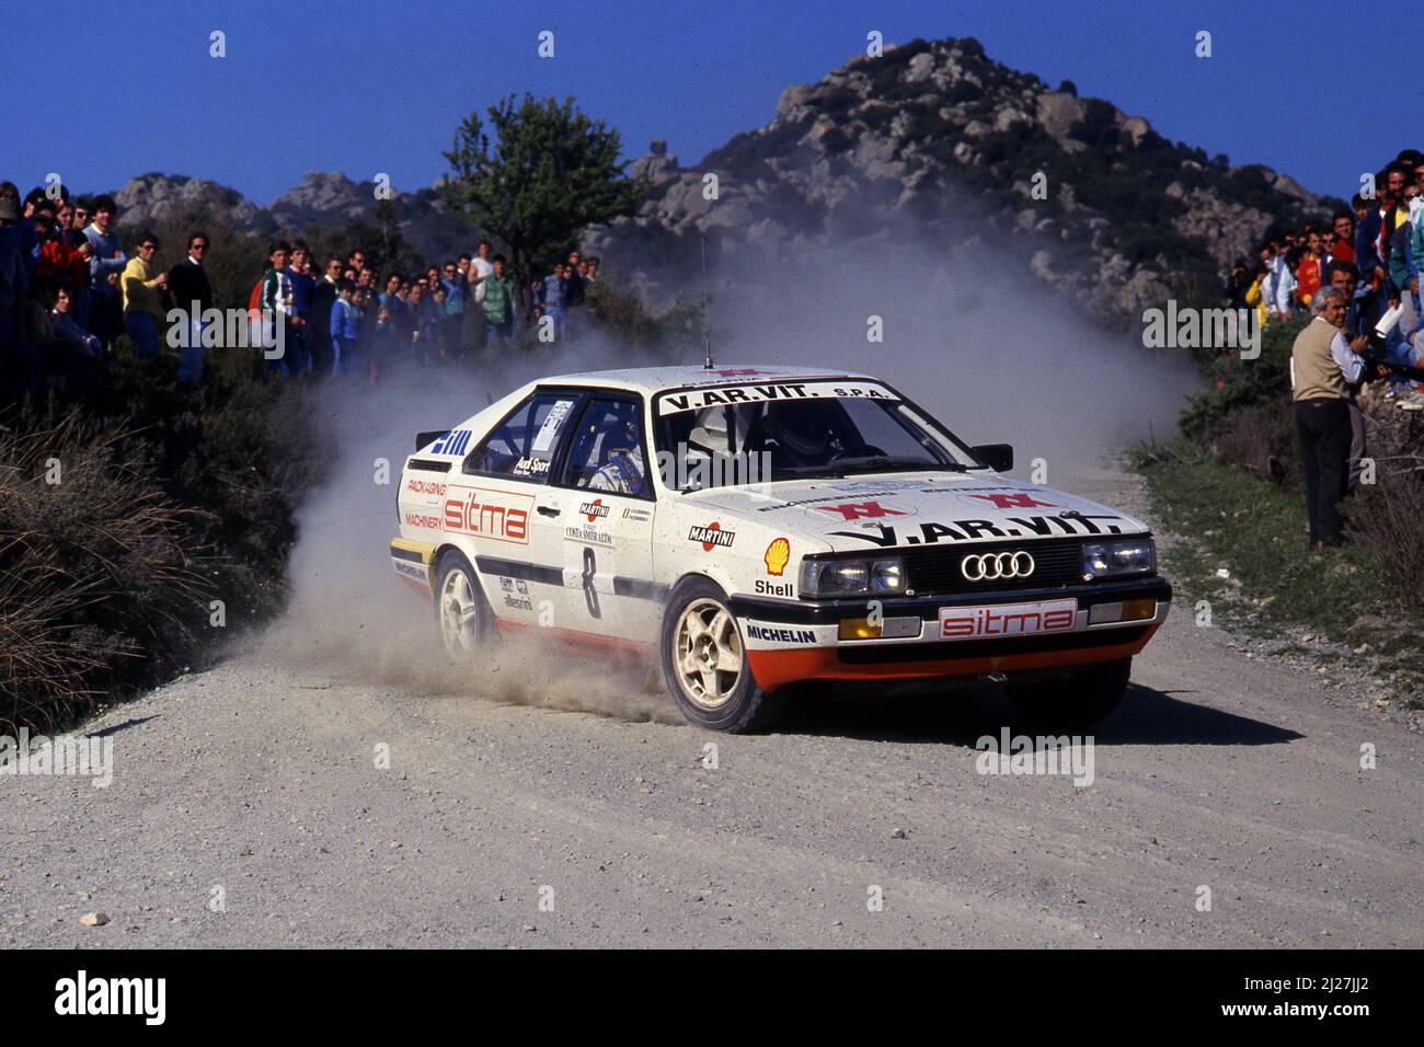
[[[809,395],[738,402],[738,390],[708,389],[664,396],[656,437],[664,481],[688,490],[810,477],[964,472],[980,464],[953,434],[880,386],[857,385],[856,395],[840,395],[853,389],[796,387]]]

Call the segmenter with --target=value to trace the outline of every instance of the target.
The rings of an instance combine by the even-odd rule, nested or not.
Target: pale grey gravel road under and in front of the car
[[[1071,489],[1142,510],[1116,473]],[[1087,788],[975,771],[994,691],[716,736],[637,677],[570,711],[612,707],[577,672],[390,682],[350,644],[111,711],[110,788],[0,779],[0,944],[1424,946],[1424,738],[1180,605]]]

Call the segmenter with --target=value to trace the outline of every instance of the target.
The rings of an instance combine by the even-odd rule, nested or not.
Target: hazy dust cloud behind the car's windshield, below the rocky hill
[[[874,375],[965,443],[1014,444],[1015,476],[1042,459],[1044,483],[1071,489],[1126,444],[1171,436],[1199,379],[1185,353],[1087,321],[1015,254],[924,238],[733,254],[709,271],[726,288],[709,309],[729,335],[718,362]]]

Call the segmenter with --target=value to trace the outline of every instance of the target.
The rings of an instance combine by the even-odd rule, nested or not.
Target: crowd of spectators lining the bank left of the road
[[[0,406],[98,380],[121,336],[141,356],[174,346],[178,377],[189,383],[202,379],[205,346],[228,343],[205,330],[215,306],[209,236],[189,234],[181,261],[165,268],[150,231],[132,256],[124,252],[117,215],[108,195],[70,197],[56,185],[21,199],[13,182],[0,182]],[[572,251],[520,293],[488,241],[410,274],[377,274],[362,249],[318,259],[300,239],[275,241],[246,302],[245,342],[269,349],[269,377],[379,382],[404,366],[508,345],[523,329],[544,342],[577,338],[597,276],[598,259]],[[281,355],[271,352],[278,345]]]

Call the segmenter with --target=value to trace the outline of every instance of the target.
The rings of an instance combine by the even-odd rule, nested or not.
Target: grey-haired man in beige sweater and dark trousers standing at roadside
[[[1323,288],[1310,302],[1314,313],[1290,349],[1290,387],[1296,436],[1306,473],[1310,547],[1340,544],[1340,499],[1350,469],[1349,386],[1364,376],[1357,355],[1366,336],[1346,340],[1347,301],[1339,288]],[[1383,370],[1383,369],[1381,369]]]

